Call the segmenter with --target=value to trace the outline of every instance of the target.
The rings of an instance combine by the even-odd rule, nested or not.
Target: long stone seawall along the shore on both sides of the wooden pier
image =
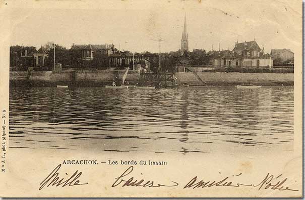
[[[76,86],[102,86],[111,84],[118,76],[123,77],[125,70],[96,71],[32,71],[10,72],[11,86],[55,86],[56,84]],[[176,73],[178,83],[191,85],[236,85],[241,82],[260,85],[293,85],[293,73],[238,73],[238,72],[187,72]],[[136,84],[138,71],[129,71],[126,81]]]

